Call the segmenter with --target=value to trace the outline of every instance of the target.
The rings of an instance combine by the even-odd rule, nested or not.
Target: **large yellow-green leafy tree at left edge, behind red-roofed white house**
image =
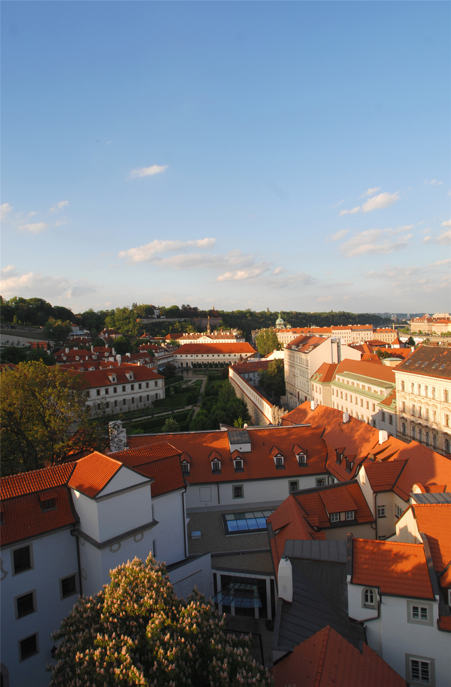
[[[2,473],[54,465],[69,454],[104,450],[107,438],[89,423],[84,376],[43,361],[19,363],[1,373]]]

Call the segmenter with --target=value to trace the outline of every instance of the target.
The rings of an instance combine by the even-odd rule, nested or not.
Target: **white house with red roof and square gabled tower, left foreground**
[[[51,633],[135,556],[165,561],[179,597],[211,596],[209,554],[188,558],[186,488],[167,442],[3,478],[2,684],[48,685]]]

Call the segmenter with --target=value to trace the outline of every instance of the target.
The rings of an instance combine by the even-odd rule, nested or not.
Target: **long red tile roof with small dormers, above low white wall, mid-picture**
[[[243,453],[244,472],[240,482],[245,480],[264,480],[299,475],[318,475],[325,473],[326,446],[321,438],[323,427],[272,427],[249,428],[251,452]],[[237,475],[230,453],[227,431],[177,432],[173,434],[148,434],[128,437],[128,447],[135,449],[170,442],[180,453],[187,451],[191,456],[191,469],[185,475],[189,484],[208,484],[209,482],[235,482]],[[299,466],[292,451],[299,442],[307,451],[307,465]],[[284,469],[277,469],[270,451],[274,444],[284,455]],[[218,451],[221,460],[221,473],[211,472],[211,452]]]

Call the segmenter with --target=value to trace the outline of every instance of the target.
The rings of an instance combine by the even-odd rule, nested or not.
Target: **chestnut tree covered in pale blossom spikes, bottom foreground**
[[[119,565],[99,594],[80,597],[52,639],[50,687],[273,685],[249,653],[250,635],[226,635],[196,589],[179,600],[151,555]]]

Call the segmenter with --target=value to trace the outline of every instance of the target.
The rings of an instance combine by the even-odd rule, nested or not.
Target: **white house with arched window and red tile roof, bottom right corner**
[[[349,536],[349,616],[363,622],[371,649],[410,685],[450,684],[451,632],[439,627],[443,605],[430,546]]]

